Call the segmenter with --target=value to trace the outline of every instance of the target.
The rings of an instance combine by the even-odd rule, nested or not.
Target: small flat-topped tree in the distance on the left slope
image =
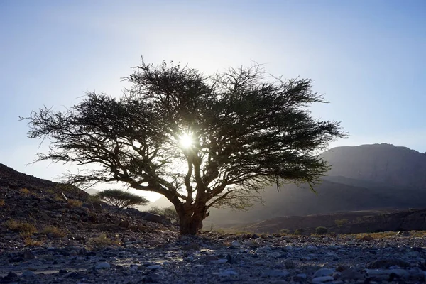
[[[148,203],[146,198],[123,190],[103,190],[98,192],[96,196],[99,197],[100,200],[119,208],[126,208],[133,205],[145,205]]]

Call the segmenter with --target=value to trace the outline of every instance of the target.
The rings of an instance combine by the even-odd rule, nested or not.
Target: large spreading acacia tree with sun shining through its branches
[[[126,81],[121,97],[90,92],[65,112],[31,112],[28,136],[51,143],[36,160],[98,165],[70,182],[164,195],[180,234],[196,234],[210,207],[246,208],[268,185],[312,188],[329,170],[318,151],[345,136],[339,123],[312,118],[307,107],[324,102],[312,80],[268,76],[259,65],[206,77],[142,62]]]

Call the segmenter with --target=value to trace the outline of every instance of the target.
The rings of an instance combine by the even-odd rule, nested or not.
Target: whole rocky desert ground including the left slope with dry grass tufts
[[[381,239],[212,231],[179,236],[159,216],[115,209],[76,187],[1,170],[0,283],[426,280],[424,232]]]

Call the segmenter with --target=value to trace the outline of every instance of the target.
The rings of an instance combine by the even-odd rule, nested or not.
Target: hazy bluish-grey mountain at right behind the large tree
[[[266,206],[255,204],[249,212],[212,209],[207,224],[260,222],[283,216],[306,216],[361,210],[426,207],[426,155],[405,147],[373,144],[337,147],[322,153],[332,165],[329,175],[315,185],[266,188]],[[153,206],[170,206],[161,198]]]

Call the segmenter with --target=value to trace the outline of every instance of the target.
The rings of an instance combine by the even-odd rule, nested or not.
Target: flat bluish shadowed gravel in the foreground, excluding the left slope
[[[426,238],[262,236],[175,228],[121,245],[46,240],[0,246],[0,283],[425,283]]]

